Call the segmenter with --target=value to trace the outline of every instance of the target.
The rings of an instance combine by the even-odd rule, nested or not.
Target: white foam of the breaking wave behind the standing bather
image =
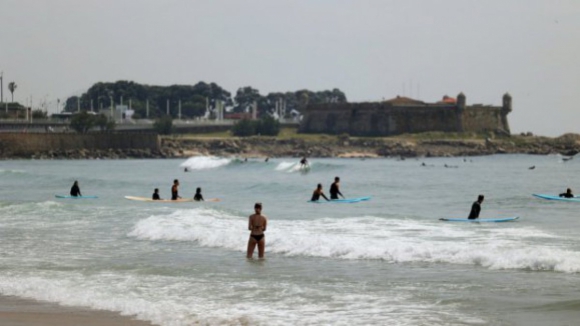
[[[129,236],[194,241],[201,246],[243,251],[247,241],[246,223],[244,217],[216,210],[182,210],[143,219]],[[580,253],[568,248],[565,238],[533,227],[505,224],[501,227],[453,227],[444,223],[377,217],[270,223],[275,223],[276,228],[267,232],[267,251],[286,256],[580,272]],[[542,238],[551,239],[554,244],[550,247],[537,244]]]

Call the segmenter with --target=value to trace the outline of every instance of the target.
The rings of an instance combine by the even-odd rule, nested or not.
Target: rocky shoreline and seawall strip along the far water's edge
[[[1,134],[0,158],[98,159],[236,157],[442,157],[501,153],[575,155],[580,135],[499,139],[352,138],[318,139],[186,138],[156,134]]]

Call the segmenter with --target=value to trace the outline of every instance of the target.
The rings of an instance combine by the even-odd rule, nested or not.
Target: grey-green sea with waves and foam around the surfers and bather
[[[424,165],[422,163],[425,163]],[[160,325],[575,325],[580,162],[468,158],[2,161],[0,294]],[[534,169],[530,169],[535,166]],[[190,172],[184,172],[187,167]],[[346,197],[309,203],[335,176]],[[180,195],[220,202],[135,202]],[[83,195],[56,199],[78,180]],[[576,189],[578,188],[578,189]],[[479,194],[481,217],[450,223]],[[262,202],[266,259],[247,260]]]

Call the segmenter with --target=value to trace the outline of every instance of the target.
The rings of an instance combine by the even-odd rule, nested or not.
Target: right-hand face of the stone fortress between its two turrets
[[[505,115],[505,116],[504,116]],[[469,106],[461,117],[465,131],[482,132],[503,130],[509,133],[507,113],[501,107]]]

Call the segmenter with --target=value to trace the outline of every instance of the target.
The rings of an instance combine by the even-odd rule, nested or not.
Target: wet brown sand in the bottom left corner
[[[152,326],[114,312],[0,296],[2,326]]]

